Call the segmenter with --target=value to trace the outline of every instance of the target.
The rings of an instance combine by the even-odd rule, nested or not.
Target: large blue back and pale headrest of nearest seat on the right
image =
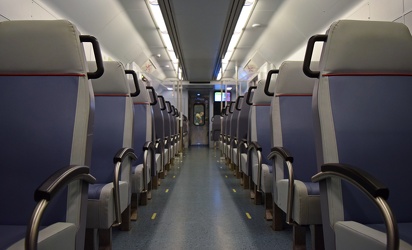
[[[332,24],[323,40],[320,73],[312,72],[319,77],[313,101],[318,166],[346,163],[372,174],[389,188],[397,221],[411,222],[412,199],[404,194],[412,188],[411,34],[400,23],[345,20]],[[334,247],[336,221],[382,223],[378,209],[347,183],[320,184],[328,247]]]

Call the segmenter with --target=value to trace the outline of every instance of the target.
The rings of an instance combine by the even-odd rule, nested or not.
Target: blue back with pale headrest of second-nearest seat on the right
[[[311,182],[317,172],[312,119],[315,80],[303,73],[302,65],[285,61],[279,67],[271,103],[272,147],[284,147],[293,155],[294,179]],[[277,157],[275,164],[276,180],[287,178],[283,159]]]

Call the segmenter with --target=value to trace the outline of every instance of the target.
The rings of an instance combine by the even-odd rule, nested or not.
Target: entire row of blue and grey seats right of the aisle
[[[412,249],[411,77],[405,25],[341,20],[223,110],[226,162],[294,248],[310,226],[312,249]]]

